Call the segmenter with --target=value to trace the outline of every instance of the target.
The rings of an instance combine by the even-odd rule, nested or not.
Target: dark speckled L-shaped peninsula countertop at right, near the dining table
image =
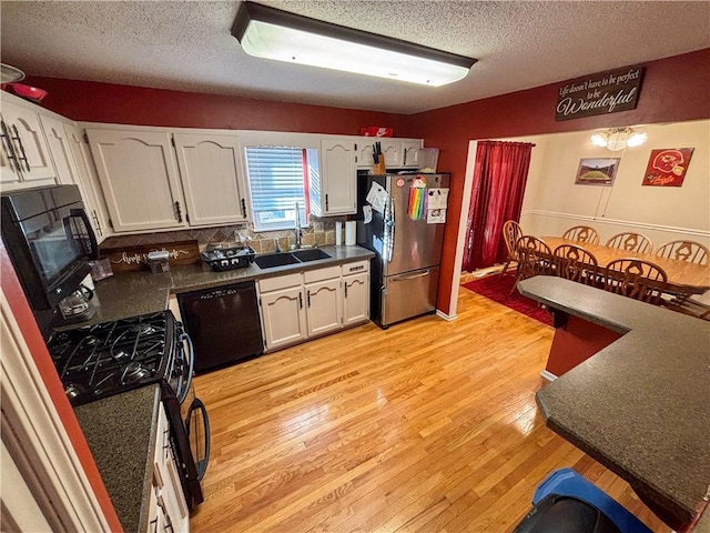
[[[710,322],[552,276],[521,294],[625,333],[538,391],[547,424],[627,480],[669,525],[710,484]]]

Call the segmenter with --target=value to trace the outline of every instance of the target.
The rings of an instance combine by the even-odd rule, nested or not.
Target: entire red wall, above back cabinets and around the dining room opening
[[[459,268],[455,253],[468,141],[710,118],[710,49],[642,64],[637,109],[562,122],[555,121],[562,81],[410,115],[52,78],[31,77],[28,83],[49,91],[43,105],[74,120],[339,134],[390,125],[397,137],[424,138],[427,147],[440,149],[438,168],[452,172],[438,299],[448,312]]]

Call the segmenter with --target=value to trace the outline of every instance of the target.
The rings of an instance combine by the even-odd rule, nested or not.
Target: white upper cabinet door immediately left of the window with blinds
[[[246,221],[236,135],[173,134],[190,225]]]

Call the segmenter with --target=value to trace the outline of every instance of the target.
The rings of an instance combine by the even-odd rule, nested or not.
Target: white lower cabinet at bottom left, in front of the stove
[[[190,511],[182,493],[175,454],[170,441],[170,425],[162,403],[159,406],[156,431],[146,531],[150,533],[187,532],[190,531]]]

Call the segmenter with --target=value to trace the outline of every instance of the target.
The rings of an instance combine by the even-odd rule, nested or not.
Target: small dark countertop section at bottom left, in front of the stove
[[[160,388],[143,386],[74,409],[126,532],[146,531]]]

